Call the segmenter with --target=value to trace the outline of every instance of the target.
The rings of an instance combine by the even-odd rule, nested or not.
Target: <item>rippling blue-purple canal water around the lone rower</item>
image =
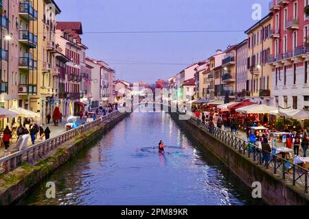
[[[194,132],[194,130],[192,130]],[[173,146],[159,153],[159,140]],[[148,148],[148,149],[145,149]],[[46,183],[56,185],[47,198]],[[19,205],[263,205],[169,114],[133,113]]]

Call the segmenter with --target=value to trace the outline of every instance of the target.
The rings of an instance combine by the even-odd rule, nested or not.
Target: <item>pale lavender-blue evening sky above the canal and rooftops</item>
[[[116,78],[155,83],[246,38],[257,21],[252,5],[268,0],[56,0],[57,21],[80,21],[88,57],[104,60]],[[216,30],[216,31],[214,31]],[[202,33],[119,33],[206,31]],[[109,32],[109,33],[106,33]],[[111,33],[114,32],[114,33]],[[115,33],[118,32],[118,33]]]

